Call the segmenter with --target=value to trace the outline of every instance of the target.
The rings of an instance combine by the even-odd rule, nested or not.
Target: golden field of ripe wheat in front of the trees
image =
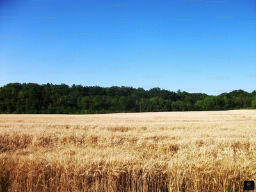
[[[0,191],[243,191],[256,110],[0,115]]]

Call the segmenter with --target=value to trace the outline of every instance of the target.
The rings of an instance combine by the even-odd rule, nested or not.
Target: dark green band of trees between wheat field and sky
[[[218,96],[160,88],[9,83],[0,87],[0,113],[95,114],[256,109],[256,91]]]

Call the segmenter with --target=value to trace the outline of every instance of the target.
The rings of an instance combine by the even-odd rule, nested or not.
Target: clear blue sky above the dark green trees
[[[256,90],[255,0],[1,0],[0,86]]]

